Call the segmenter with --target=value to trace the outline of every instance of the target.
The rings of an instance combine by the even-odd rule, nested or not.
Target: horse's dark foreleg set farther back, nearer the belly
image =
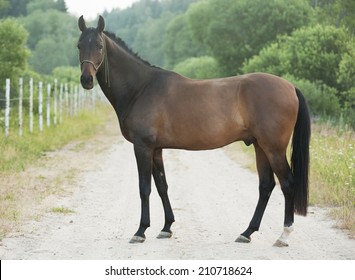
[[[162,149],[158,149],[154,151],[152,173],[153,173],[155,185],[158,189],[159,196],[163,202],[164,214],[165,214],[164,228],[157,236],[157,238],[170,238],[172,236],[172,231],[170,230],[170,227],[175,220],[174,220],[173,210],[171,209],[171,205],[168,197],[168,184],[165,178]]]

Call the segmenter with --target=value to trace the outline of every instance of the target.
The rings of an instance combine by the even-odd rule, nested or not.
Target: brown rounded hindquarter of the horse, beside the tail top
[[[280,77],[265,73],[243,77],[240,91],[250,131],[259,142],[268,142],[267,145],[274,142],[286,149],[297,119],[295,87]]]

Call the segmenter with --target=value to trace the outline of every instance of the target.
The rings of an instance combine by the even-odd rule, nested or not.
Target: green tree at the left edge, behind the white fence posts
[[[15,19],[0,21],[0,81],[16,80],[27,67],[30,54],[26,48],[28,33]]]

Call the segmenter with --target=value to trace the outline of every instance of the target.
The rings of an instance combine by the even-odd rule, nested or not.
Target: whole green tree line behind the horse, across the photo
[[[141,0],[103,16],[152,64],[191,78],[283,76],[314,116],[355,127],[354,14],[353,0]],[[63,0],[0,0],[0,16],[1,79],[24,69],[78,75],[77,18]]]

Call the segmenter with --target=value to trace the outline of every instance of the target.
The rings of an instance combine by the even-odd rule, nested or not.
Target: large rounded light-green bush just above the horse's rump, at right
[[[315,25],[295,30],[261,50],[243,66],[243,72],[265,71],[291,74],[300,79],[321,81],[343,90],[338,83],[342,57],[348,51],[351,35],[334,26]]]

